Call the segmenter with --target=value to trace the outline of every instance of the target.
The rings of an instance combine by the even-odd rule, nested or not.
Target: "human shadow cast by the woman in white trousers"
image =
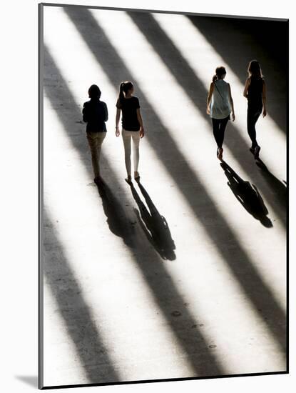
[[[156,209],[148,195],[148,192],[140,181],[138,181],[138,186],[146,200],[149,211],[145,204],[141,201],[141,198],[132,183],[130,186],[133,199],[135,199],[138,204],[138,210],[135,209],[135,213],[148,241],[153,245],[158,254],[160,254],[160,257],[163,259],[169,259],[170,261],[175,260],[175,242],[171,237],[168,222],[165,217],[158,212],[158,209]]]

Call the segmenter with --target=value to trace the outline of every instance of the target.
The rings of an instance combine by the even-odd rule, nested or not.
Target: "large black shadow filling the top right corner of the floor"
[[[249,61],[260,61],[267,81],[268,115],[286,133],[289,66],[287,21],[213,16],[188,16],[188,19],[235,71],[243,85],[247,79]],[[276,99],[272,99],[270,91]]]

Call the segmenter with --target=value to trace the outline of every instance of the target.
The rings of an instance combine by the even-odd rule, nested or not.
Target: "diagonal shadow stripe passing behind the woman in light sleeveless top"
[[[195,71],[184,59],[183,55],[180,54],[173,41],[165,34],[165,31],[163,31],[151,14],[141,12],[128,12],[128,14],[136,26],[138,26],[138,29],[146,36],[147,41],[153,46],[160,59],[163,60],[163,64],[168,67],[170,73],[175,77],[175,81],[188,95],[193,105],[200,111],[200,114],[208,121],[208,115],[205,113],[205,97],[208,95],[208,91],[205,90],[202,81],[198,79]],[[260,184],[262,192],[269,199],[275,213],[280,217],[284,227],[286,227],[286,210],[282,209],[282,204],[274,203],[273,192],[270,192],[269,188],[270,184],[265,182],[265,177],[262,177],[260,173],[255,174],[252,161],[242,160],[241,152],[249,151],[249,146],[247,146],[243,137],[240,136],[239,129],[233,123],[230,123],[228,128],[230,128],[229,131],[232,134],[232,138],[225,138],[224,143],[232,151],[235,159],[240,162],[245,172],[252,174],[252,176],[255,175],[255,183]]]

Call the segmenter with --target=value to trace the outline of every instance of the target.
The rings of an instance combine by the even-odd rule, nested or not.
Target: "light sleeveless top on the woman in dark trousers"
[[[225,119],[231,112],[229,101],[229,87],[223,79],[214,82],[214,91],[210,102],[210,117]]]

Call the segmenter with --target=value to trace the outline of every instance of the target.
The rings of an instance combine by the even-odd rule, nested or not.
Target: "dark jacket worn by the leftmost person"
[[[105,121],[108,120],[108,109],[105,102],[90,99],[83,104],[83,121],[86,122],[86,132],[106,132]]]

